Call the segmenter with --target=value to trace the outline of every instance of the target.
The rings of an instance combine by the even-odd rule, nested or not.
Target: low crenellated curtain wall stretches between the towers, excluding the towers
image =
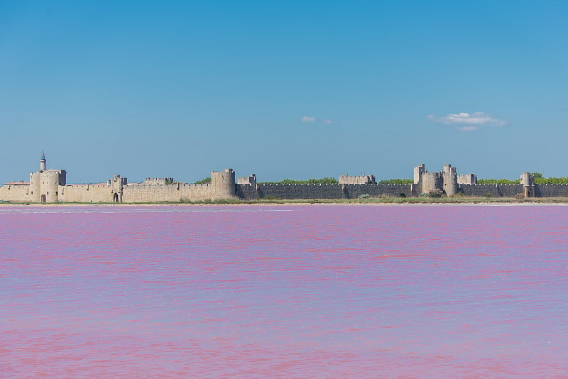
[[[276,197],[279,199],[356,199],[361,194],[371,197],[417,196],[412,185],[235,185],[236,197],[245,200]],[[35,202],[27,185],[0,187],[0,200]],[[58,187],[59,202],[113,202],[116,188],[106,185],[64,185]],[[466,196],[515,197],[523,193],[523,185],[459,185]],[[180,202],[216,197],[208,184],[204,185],[125,185],[123,202]],[[568,197],[568,185],[535,185],[536,197]]]

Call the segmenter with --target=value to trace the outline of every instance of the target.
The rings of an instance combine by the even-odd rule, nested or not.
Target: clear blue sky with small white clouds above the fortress
[[[0,1],[0,182],[568,176],[565,1]]]

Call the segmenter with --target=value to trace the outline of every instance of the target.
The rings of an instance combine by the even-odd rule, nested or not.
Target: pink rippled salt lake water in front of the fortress
[[[1,378],[568,377],[568,207],[0,207]]]

